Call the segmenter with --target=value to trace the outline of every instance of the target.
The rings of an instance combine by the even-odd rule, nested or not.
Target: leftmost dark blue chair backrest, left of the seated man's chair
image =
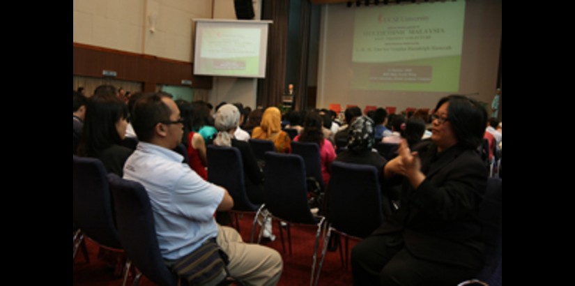
[[[121,249],[106,173],[100,160],[74,156],[73,220],[90,239]]]

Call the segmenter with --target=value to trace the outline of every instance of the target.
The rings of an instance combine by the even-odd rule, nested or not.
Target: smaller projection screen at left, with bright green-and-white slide
[[[199,20],[194,75],[265,77],[268,22]]]

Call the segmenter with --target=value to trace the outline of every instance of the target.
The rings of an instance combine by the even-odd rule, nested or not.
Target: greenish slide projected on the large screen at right
[[[465,1],[356,9],[352,89],[457,91]]]

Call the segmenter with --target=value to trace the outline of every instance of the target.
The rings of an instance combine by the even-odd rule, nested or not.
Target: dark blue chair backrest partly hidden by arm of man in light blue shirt
[[[247,197],[243,174],[243,160],[236,147],[208,146],[208,181],[228,190],[236,211],[257,211]]]

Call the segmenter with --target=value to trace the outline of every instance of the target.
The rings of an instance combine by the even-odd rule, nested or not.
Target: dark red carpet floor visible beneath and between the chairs
[[[244,241],[250,241],[250,232],[252,230],[252,215],[244,215],[240,219],[240,230]],[[274,248],[284,259],[284,271],[278,285],[309,285],[309,275],[312,271],[312,255],[314,251],[314,240],[316,234],[315,226],[292,225],[291,227],[291,247],[292,254],[289,255],[287,234],[284,232],[286,243],[286,253],[283,253],[282,242],[279,239],[279,230],[277,222],[273,223],[273,233],[276,236],[275,241],[261,243]],[[342,239],[342,242],[344,240]],[[350,239],[349,248],[355,245],[356,241]],[[320,242],[320,249],[323,241]],[[109,268],[105,262],[98,259],[98,245],[90,240],[86,240],[90,263],[86,263],[82,251],[79,250],[74,262],[74,285],[121,285],[122,278],[114,277],[113,269]],[[319,255],[318,255],[319,259]],[[132,283],[132,278],[128,280]],[[140,285],[154,285],[145,277],[140,280]],[[339,259],[339,251],[327,252],[325,262],[321,271],[319,285],[352,285],[351,267],[342,268],[342,262]]]

